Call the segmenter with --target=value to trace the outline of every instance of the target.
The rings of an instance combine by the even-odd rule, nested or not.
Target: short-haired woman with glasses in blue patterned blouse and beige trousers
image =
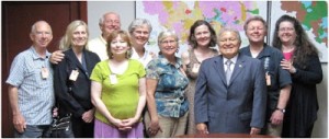
[[[173,31],[158,36],[159,56],[146,68],[147,106],[145,124],[149,137],[169,138],[185,134],[189,103],[184,91],[189,79],[175,57],[179,39]]]

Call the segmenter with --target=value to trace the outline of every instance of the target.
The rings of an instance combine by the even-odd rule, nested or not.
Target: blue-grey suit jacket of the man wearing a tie
[[[266,85],[261,61],[239,55],[226,83],[223,56],[204,60],[195,86],[195,121],[209,132],[249,134],[264,126]]]

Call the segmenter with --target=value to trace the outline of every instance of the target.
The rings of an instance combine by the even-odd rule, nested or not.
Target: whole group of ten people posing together
[[[89,40],[88,25],[72,21],[53,54],[50,25],[32,25],[33,44],[14,58],[7,80],[14,137],[46,137],[55,114],[70,116],[76,138],[311,136],[322,70],[295,18],[277,20],[273,47],[264,43],[266,22],[248,19],[249,45],[241,49],[237,30],[225,26],[216,35],[197,20],[180,57],[172,30],[158,35],[159,54],[145,48],[152,31],[146,19],[126,32],[109,12],[99,25],[102,34]]]

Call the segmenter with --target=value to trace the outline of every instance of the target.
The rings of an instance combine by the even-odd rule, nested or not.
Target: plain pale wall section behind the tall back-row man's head
[[[121,27],[124,31],[128,30],[131,22],[135,19],[135,1],[88,1],[87,4],[90,39],[101,34],[99,20],[106,12],[120,14]]]

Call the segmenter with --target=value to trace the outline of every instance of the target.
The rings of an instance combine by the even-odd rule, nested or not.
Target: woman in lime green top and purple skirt
[[[124,31],[107,38],[109,59],[99,62],[90,79],[95,112],[95,138],[143,138],[140,114],[146,103],[145,69],[129,59],[132,44]]]

